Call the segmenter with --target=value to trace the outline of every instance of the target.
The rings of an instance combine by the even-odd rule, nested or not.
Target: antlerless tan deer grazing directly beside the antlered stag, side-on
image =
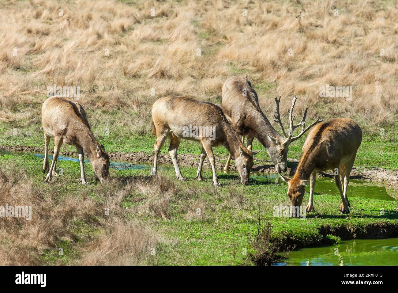
[[[166,96],[154,102],[152,106],[152,124],[154,126],[153,134],[156,134],[152,176],[156,175],[159,151],[166,138],[170,138],[168,152],[172,158],[176,176],[180,181],[185,180],[178,166],[177,150],[181,139],[186,139],[197,141],[202,145],[195,179],[203,180],[202,167],[203,161],[207,156],[213,171],[213,185],[220,187],[215,168],[213,147],[223,145],[236,157],[235,165],[238,169],[241,183],[244,185],[250,183],[253,155],[259,151],[249,151],[242,144],[238,134],[236,134],[219,106],[209,102],[194,100],[187,96]]]

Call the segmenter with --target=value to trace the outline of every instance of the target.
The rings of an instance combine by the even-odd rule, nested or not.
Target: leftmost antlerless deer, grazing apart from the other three
[[[50,182],[56,172],[57,158],[62,143],[76,146],[80,161],[80,182],[87,184],[84,175],[84,152],[88,155],[90,163],[102,182],[109,175],[109,156],[103,145],[98,144],[83,107],[68,98],[50,97],[43,103],[41,121],[45,138],[45,157],[43,173],[47,173],[44,182]],[[54,139],[53,162],[49,168],[48,147],[50,138]]]

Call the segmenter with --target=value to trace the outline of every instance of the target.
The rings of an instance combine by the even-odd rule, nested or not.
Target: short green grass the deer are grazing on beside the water
[[[96,193],[99,183],[95,180],[90,165],[86,164],[86,177],[89,185],[80,185],[80,167],[76,162],[59,161],[57,167],[64,169],[64,175],[56,177],[51,184],[43,184],[41,173],[42,160],[31,155],[0,155],[0,164],[14,163],[25,168],[33,184],[45,193],[60,197],[93,197],[104,203],[103,196]],[[50,162],[51,163],[51,162]],[[322,234],[322,229],[330,227],[338,229],[343,226],[353,231],[363,231],[372,225],[398,225],[398,211],[394,210],[396,202],[351,197],[351,214],[338,212],[340,199],[327,193],[314,195],[316,212],[308,213],[305,220],[290,217],[274,217],[273,207],[289,205],[286,196],[286,186],[279,184],[253,183],[250,186],[239,184],[238,178],[219,173],[221,188],[211,186],[211,170],[204,170],[205,181],[193,180],[196,170],[181,168],[183,175],[189,179],[179,182],[174,170],[162,169],[160,176],[175,182],[178,193],[170,203],[170,218],[151,217],[148,215],[128,214],[129,218],[138,220],[144,225],[154,228],[168,242],[156,248],[152,256],[154,264],[162,265],[239,265],[251,264],[242,252],[250,251],[248,234],[256,233],[258,210],[261,210],[261,222],[269,220],[273,225],[273,237],[279,237],[287,244],[295,243],[301,246],[320,245],[338,242],[338,236]],[[111,177],[117,179],[149,176],[149,170],[111,169]],[[113,191],[110,191],[113,192]],[[132,202],[130,199],[140,196],[138,190],[126,195],[122,202],[124,208],[132,205],[143,205],[145,200]],[[304,202],[308,201],[308,195]],[[200,208],[200,215],[197,214]],[[380,208],[385,214],[380,215]],[[41,256],[45,264],[55,262],[72,264],[80,257],[79,248],[86,239],[95,237],[104,231],[85,222],[74,222],[72,241],[60,240],[59,247],[64,249],[64,255],[59,256],[56,250],[46,250]]]

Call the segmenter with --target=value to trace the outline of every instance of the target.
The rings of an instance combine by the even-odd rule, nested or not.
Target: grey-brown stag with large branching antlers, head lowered
[[[290,108],[290,130],[287,135],[279,114],[279,102],[281,97],[279,97],[279,99],[275,98],[276,112],[274,114],[274,121],[278,122],[281,126],[282,137],[272,127],[267,117],[265,117],[261,111],[258,104],[257,93],[252,88],[252,84],[247,78],[241,76],[230,77],[222,86],[221,108],[224,114],[230,117],[232,127],[242,136],[242,142],[244,142],[245,136],[248,137],[248,149],[250,151],[252,150],[253,139],[257,138],[267,150],[278,173],[281,173],[281,171],[286,172],[287,170],[286,162],[289,144],[298,140],[312,126],[323,121],[321,118],[318,118],[314,123],[305,128],[305,118],[308,110],[308,108],[306,108],[301,122],[297,125],[293,125],[293,119],[295,117],[292,117],[292,115],[296,99],[297,96],[293,98]],[[299,126],[302,126],[300,134],[293,137],[293,131]],[[231,159],[232,154],[230,153],[224,171],[229,169]]]

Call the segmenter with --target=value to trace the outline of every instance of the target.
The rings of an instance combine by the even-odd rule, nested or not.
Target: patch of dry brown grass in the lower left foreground
[[[6,175],[9,174],[9,175]],[[45,255],[56,256],[51,263],[62,264],[59,247],[69,243],[74,250],[74,264],[132,265],[152,264],[151,251],[157,244],[170,243],[155,227],[132,218],[134,208],[123,208],[123,199],[132,190],[142,188],[143,181],[113,179],[97,188],[99,200],[81,195],[62,196],[57,188],[45,191],[33,186],[25,169],[11,165],[0,170],[0,206],[31,206],[32,218],[3,217],[0,220],[0,258],[3,265],[46,264]],[[148,190],[159,190],[159,178],[147,184]],[[170,181],[160,184],[169,189]],[[155,213],[164,215],[168,202],[144,203]],[[105,214],[105,208],[109,214]],[[166,214],[167,215],[167,214]],[[83,242],[80,240],[84,240]],[[70,263],[69,263],[70,264]]]

